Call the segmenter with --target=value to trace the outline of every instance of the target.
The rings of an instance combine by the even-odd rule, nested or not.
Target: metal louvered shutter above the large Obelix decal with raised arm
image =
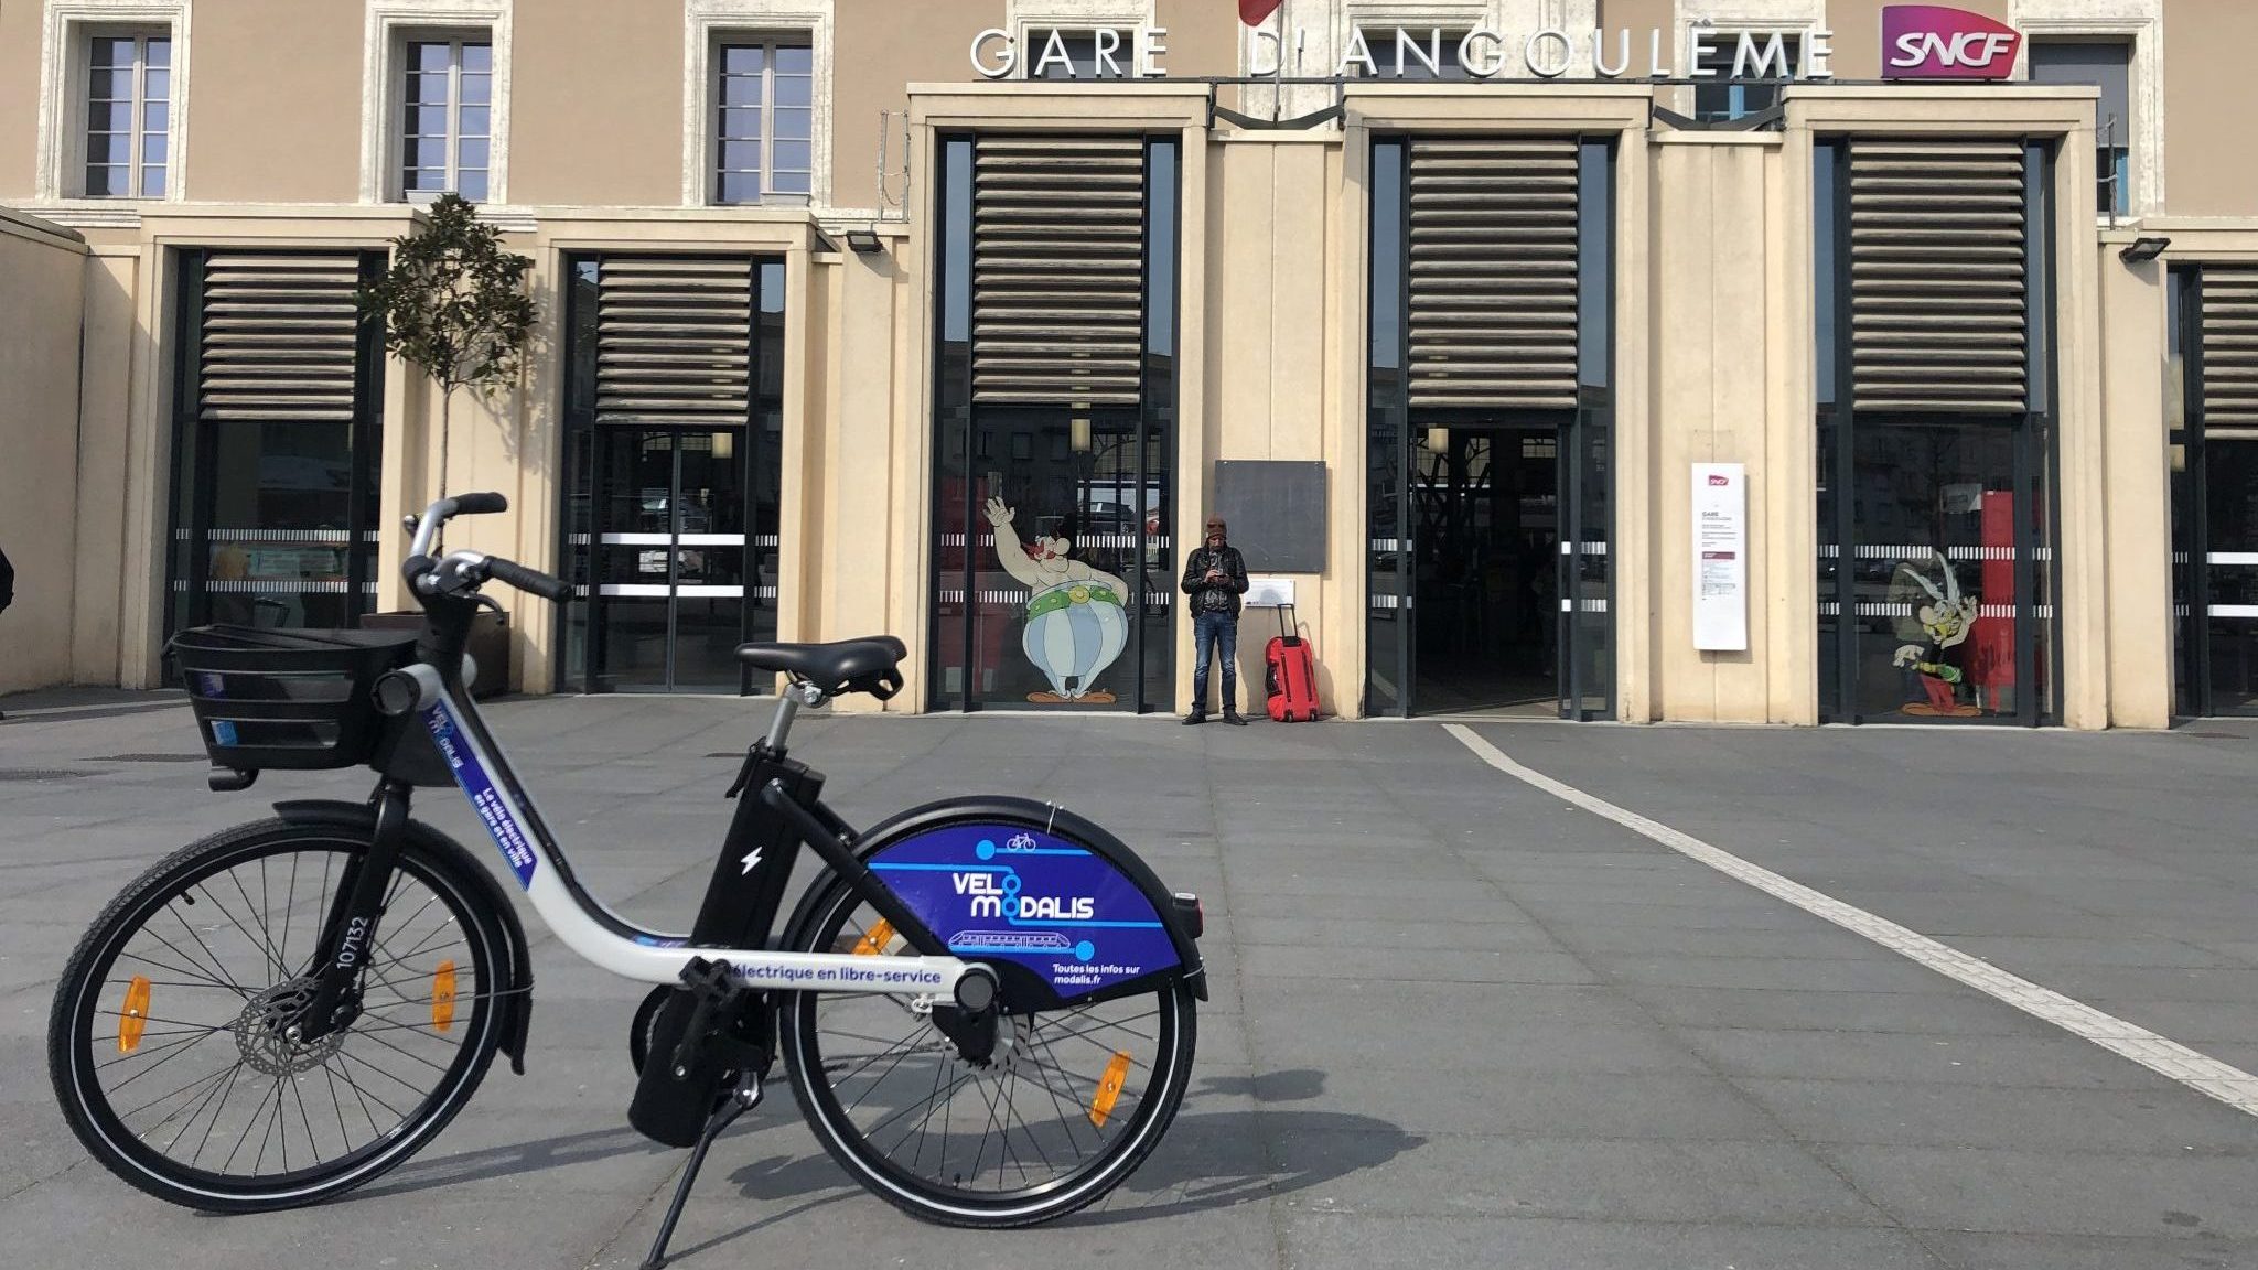
[[[1136,405],[1145,138],[982,136],[973,158],[973,400]]]

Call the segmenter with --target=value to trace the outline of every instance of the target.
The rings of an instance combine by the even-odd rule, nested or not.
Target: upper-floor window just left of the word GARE
[[[714,61],[716,203],[806,203],[815,188],[815,50],[725,43]]]

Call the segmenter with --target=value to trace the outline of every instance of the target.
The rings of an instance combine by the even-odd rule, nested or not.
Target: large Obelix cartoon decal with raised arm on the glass
[[[1113,694],[1093,689],[1091,682],[1129,642],[1129,615],[1122,608],[1129,583],[1070,558],[1075,545],[1066,538],[1021,542],[1012,529],[1014,513],[1003,499],[987,502],[987,517],[996,527],[996,560],[1003,572],[1032,592],[1021,649],[1050,680],[1050,691],[1030,691],[1027,701],[1111,705]]]

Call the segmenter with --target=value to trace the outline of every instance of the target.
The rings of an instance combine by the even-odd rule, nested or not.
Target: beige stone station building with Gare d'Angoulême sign
[[[2258,9],[2226,0],[0,7],[0,691],[578,585],[526,691],[2163,728],[2258,703]],[[533,260],[454,405],[352,289]],[[991,502],[994,499],[994,502]],[[1045,556],[1048,554],[1048,556]]]

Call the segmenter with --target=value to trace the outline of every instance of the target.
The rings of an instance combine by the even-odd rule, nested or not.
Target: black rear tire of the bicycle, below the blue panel
[[[856,938],[854,933],[847,933],[842,940],[842,931],[849,929],[849,917],[858,906],[860,902],[844,879],[835,875],[817,879],[815,888],[808,893],[808,904],[802,908],[808,920],[795,924],[795,933],[788,945],[795,951],[840,951]],[[899,936],[894,949],[890,951],[903,951]],[[1111,1146],[1084,1166],[1048,1180],[1045,1184],[996,1193],[948,1186],[935,1182],[933,1177],[919,1177],[914,1168],[901,1166],[901,1162],[892,1159],[890,1152],[881,1150],[878,1143],[872,1141],[874,1134],[854,1123],[851,1110],[842,1105],[840,1089],[833,1085],[826,1069],[815,1026],[817,1012],[826,999],[844,1001],[854,994],[824,994],[815,990],[781,994],[777,1021],[784,1067],[793,1080],[793,1094],[799,1101],[808,1128],[815,1132],[815,1139],[824,1143],[831,1159],[835,1159],[863,1189],[928,1223],[971,1229],[1009,1229],[1057,1220],[1097,1202],[1136,1173],[1145,1157],[1149,1157],[1161,1143],[1167,1125],[1174,1121],[1176,1110],[1183,1105],[1185,1087],[1190,1085],[1192,1051],[1197,1046],[1197,1001],[1190,985],[1176,974],[1158,981],[1149,994],[1156,1003],[1154,1017],[1158,1019],[1156,1058],[1149,1067],[1152,1076],[1136,1098],[1136,1110],[1129,1116],[1122,1116],[1124,1123]],[[1115,1001],[1138,1001],[1143,997],[1145,992],[1138,992],[1134,997],[1115,997]],[[854,999],[896,1001],[867,994]],[[1041,1024],[1032,1026],[1032,1035],[1041,1035]],[[849,1080],[854,1080],[854,1076],[849,1076]],[[844,1085],[844,1080],[840,1085]],[[1064,1110],[1061,1119],[1066,1119]],[[1009,1114],[1005,1116],[1003,1139],[1009,1143]],[[975,1175],[978,1162],[980,1157],[975,1155]],[[998,1155],[998,1175],[1003,1173],[1000,1162],[1003,1155]]]

